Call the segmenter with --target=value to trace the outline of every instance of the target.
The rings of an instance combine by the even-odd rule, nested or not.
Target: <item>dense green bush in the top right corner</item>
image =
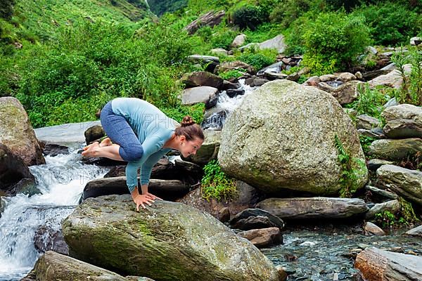
[[[407,44],[410,37],[422,31],[420,11],[392,1],[362,6],[353,14],[364,16],[377,45]]]

